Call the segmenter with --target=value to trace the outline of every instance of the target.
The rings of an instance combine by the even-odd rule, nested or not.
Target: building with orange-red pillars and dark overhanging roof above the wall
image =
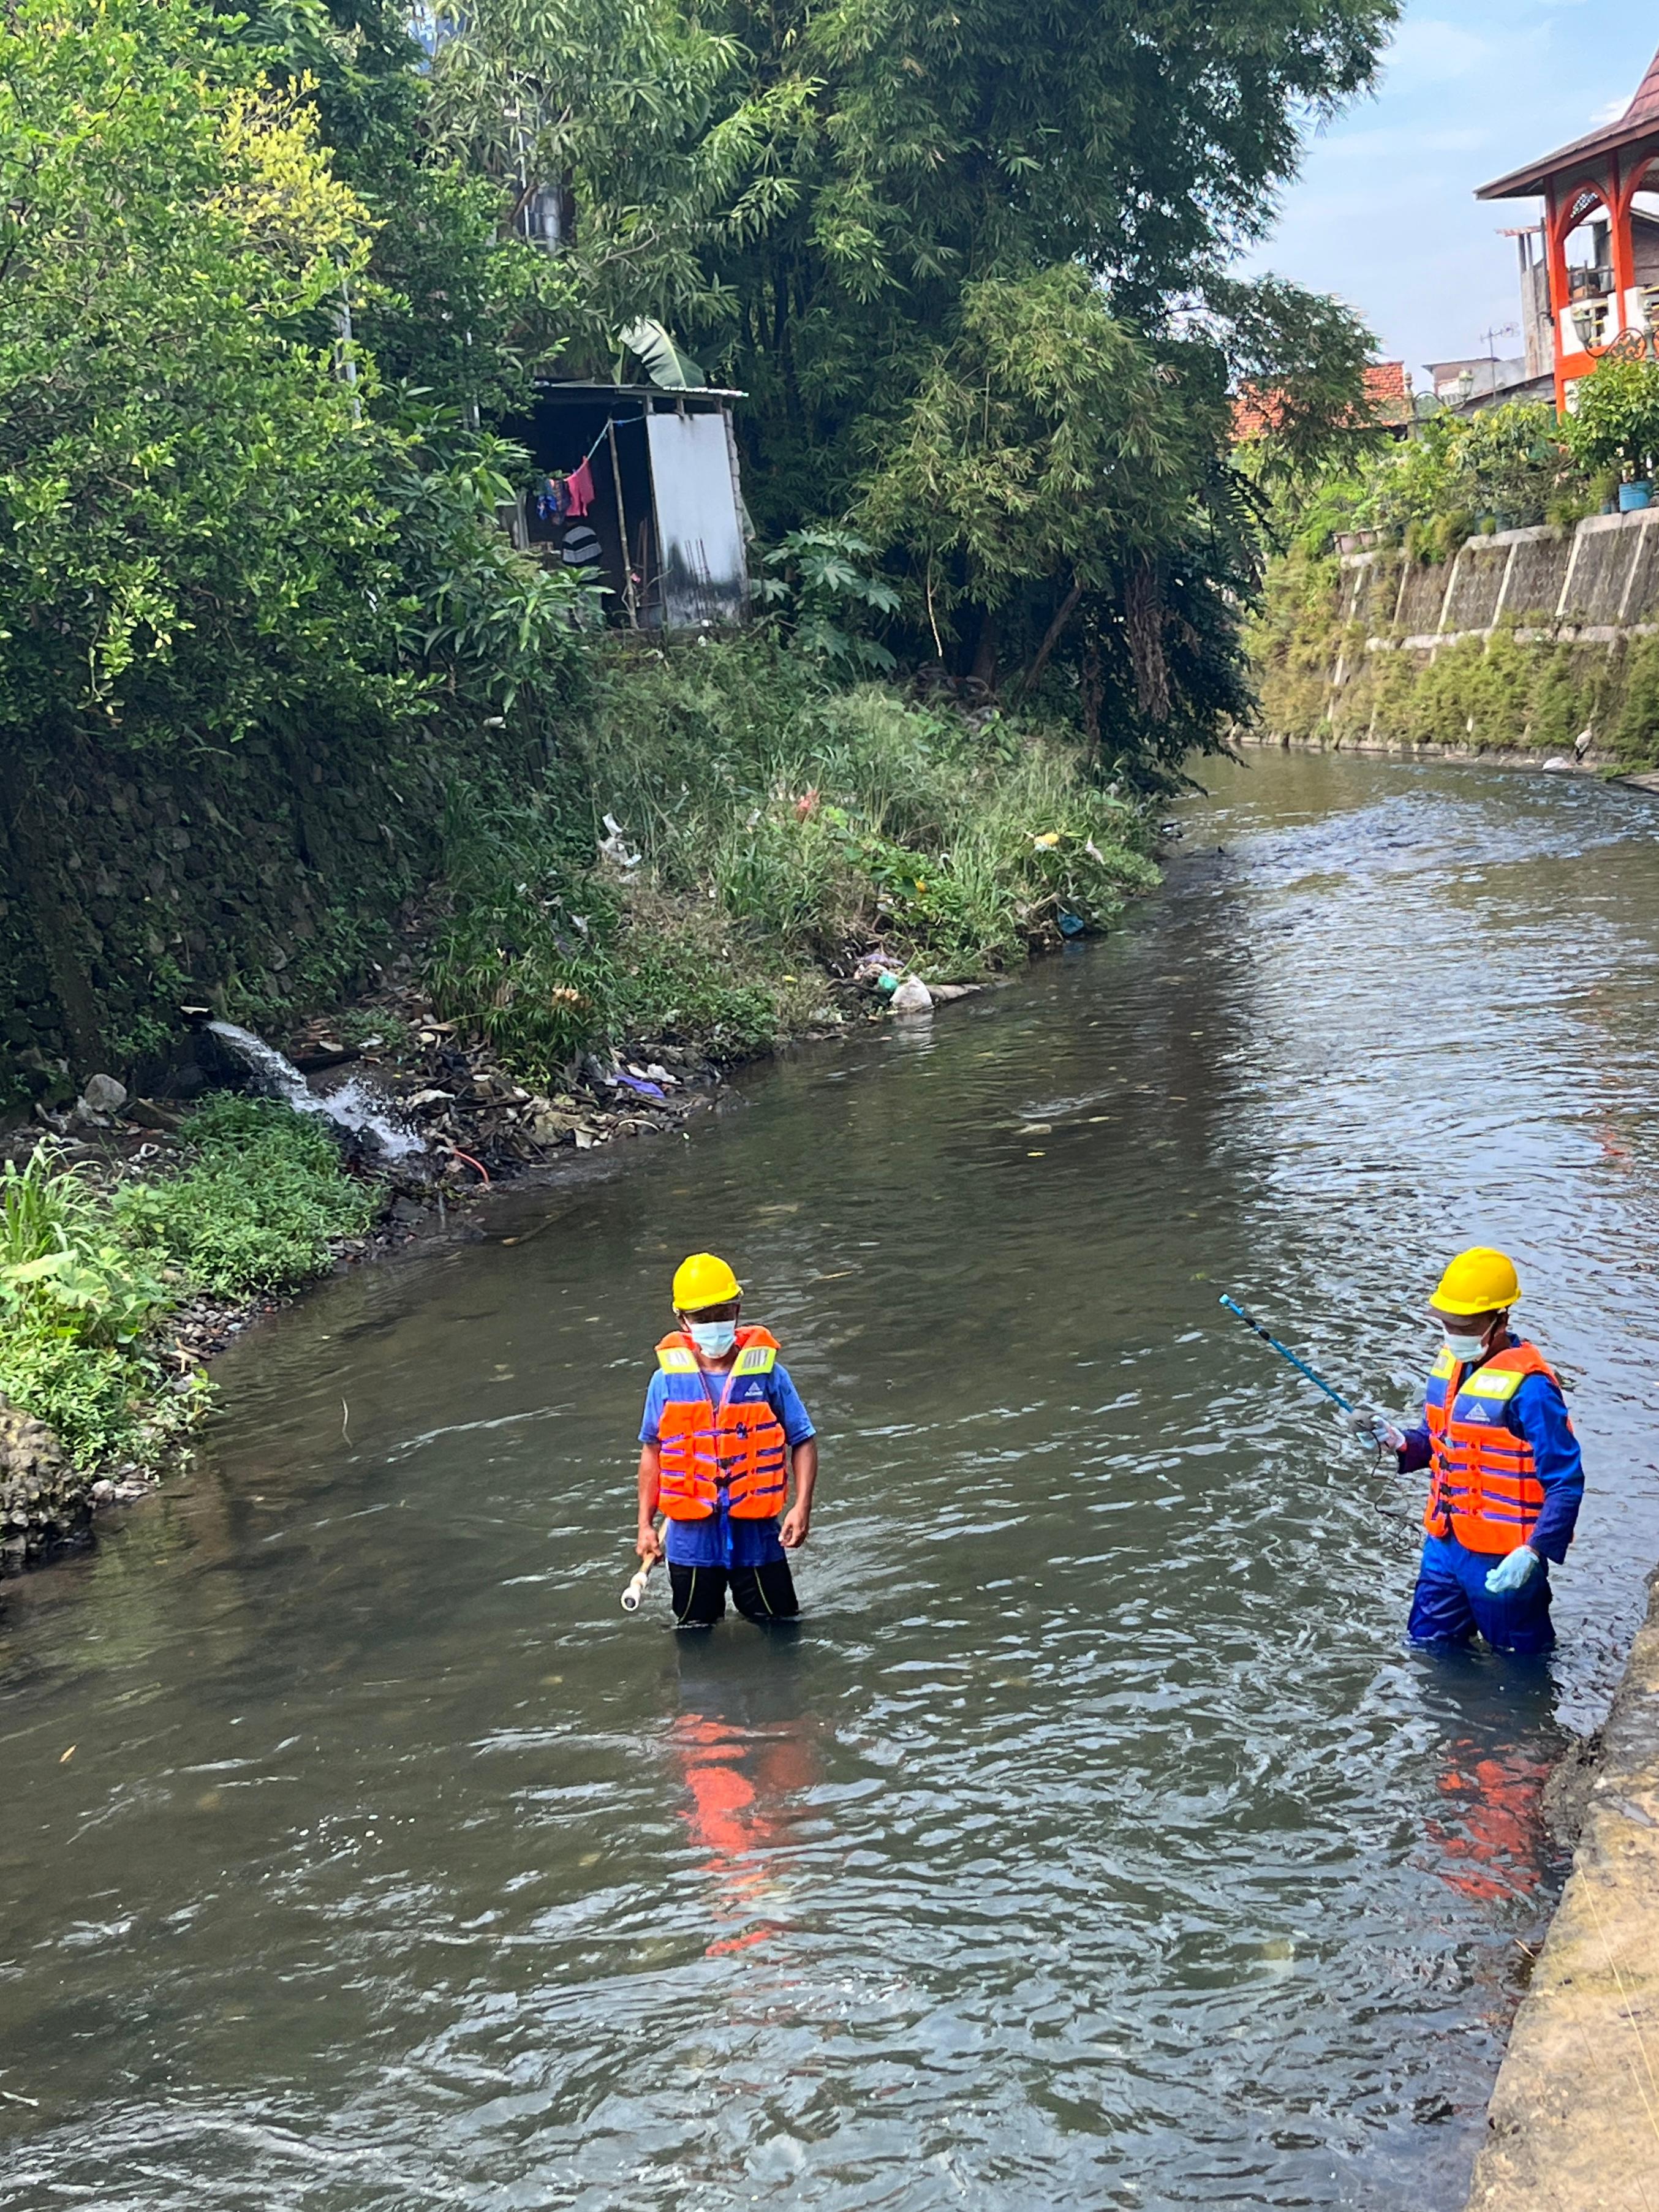
[[[1571,414],[1579,378],[1608,354],[1659,358],[1659,55],[1615,124],[1475,197],[1544,201],[1544,221],[1515,237],[1522,292],[1537,299],[1540,323],[1548,316],[1559,411]]]

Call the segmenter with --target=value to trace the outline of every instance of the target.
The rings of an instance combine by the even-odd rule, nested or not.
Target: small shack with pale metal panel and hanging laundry
[[[544,560],[597,568],[613,622],[708,630],[748,619],[748,518],[732,405],[741,392],[535,383],[511,425],[535,484],[515,538]]]

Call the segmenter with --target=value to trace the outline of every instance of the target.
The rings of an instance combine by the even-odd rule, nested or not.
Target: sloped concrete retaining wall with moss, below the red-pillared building
[[[1274,564],[1252,628],[1263,734],[1659,761],[1659,509],[1575,531]]]

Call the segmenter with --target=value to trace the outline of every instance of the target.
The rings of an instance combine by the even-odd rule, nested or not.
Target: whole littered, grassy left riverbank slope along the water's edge
[[[184,991],[164,967],[128,973],[148,1053],[128,1044],[93,1068],[58,1029],[53,1057],[13,1055],[18,1088],[38,1095],[33,1119],[0,1133],[0,1413],[27,1416],[0,1433],[0,1566],[38,1564],[84,1533],[91,1506],[155,1480],[206,1405],[204,1358],[261,1303],[480,1181],[672,1130],[723,1068],[880,1020],[883,984],[911,978],[925,1006],[922,980],[949,995],[1099,929],[1157,876],[1144,805],[1104,790],[1064,732],[834,686],[768,637],[617,653],[566,750],[513,761],[480,745],[465,776],[451,761],[438,785],[427,763],[409,785],[438,818],[400,867],[427,852],[427,874],[418,891],[387,880],[405,885],[403,907],[358,940],[374,953],[358,953],[367,989],[352,1002],[299,995],[327,971],[307,969],[303,931],[272,911],[268,993],[204,953]],[[106,889],[119,902],[124,885],[137,914],[150,845],[124,854],[111,821]],[[219,865],[239,865],[232,847]],[[270,874],[261,841],[248,865]],[[20,889],[62,914],[80,876]],[[319,883],[332,898],[334,878]],[[95,925],[97,900],[82,918]],[[60,951],[73,942],[71,929]],[[100,973],[82,971],[88,1004]],[[294,1055],[288,1091],[259,1082],[268,1046],[226,1029],[261,1013]],[[219,1064],[223,1037],[252,1055],[254,1088],[305,1113],[204,1117],[190,1104],[204,1084],[250,1075]],[[392,1117],[396,1157],[349,1133],[343,1155],[330,1148],[314,1110],[334,1084]],[[279,1177],[252,1172],[261,1148]],[[212,1194],[206,1237],[181,1197],[197,1183]]]

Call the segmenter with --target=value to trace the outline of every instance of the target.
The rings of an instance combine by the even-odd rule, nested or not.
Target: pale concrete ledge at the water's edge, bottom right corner
[[[1659,1573],[1469,2212],[1659,2212]]]

